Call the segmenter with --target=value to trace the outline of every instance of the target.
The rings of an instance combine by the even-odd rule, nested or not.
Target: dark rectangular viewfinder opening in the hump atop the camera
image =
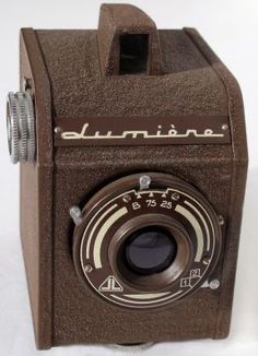
[[[148,70],[149,35],[120,36],[120,74],[139,74]]]

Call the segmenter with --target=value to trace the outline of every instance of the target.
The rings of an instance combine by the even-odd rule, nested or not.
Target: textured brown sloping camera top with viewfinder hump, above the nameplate
[[[98,29],[36,35],[56,117],[228,115],[219,59],[208,60],[188,29],[156,29],[139,9],[103,5]]]

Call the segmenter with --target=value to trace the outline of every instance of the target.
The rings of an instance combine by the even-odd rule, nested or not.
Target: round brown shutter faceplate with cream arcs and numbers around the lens
[[[149,185],[139,186],[141,177],[150,177]],[[129,272],[120,273],[119,250],[133,228],[150,222],[176,226],[179,257],[171,273],[161,272],[141,285],[137,276],[133,283],[133,277],[127,278]],[[129,308],[154,308],[200,287],[213,271],[220,248],[219,221],[207,200],[178,178],[148,174],[121,178],[89,202],[75,228],[73,256],[81,277],[103,298]]]

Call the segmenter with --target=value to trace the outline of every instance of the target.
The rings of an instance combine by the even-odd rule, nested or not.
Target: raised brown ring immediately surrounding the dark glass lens
[[[157,268],[145,269],[141,273],[138,268],[131,268],[128,258],[125,256],[125,249],[130,242],[132,236],[139,230],[149,229],[155,226],[160,230],[165,232],[166,236],[173,240],[176,247],[175,253],[171,256],[171,263],[159,263]],[[129,219],[118,228],[110,241],[108,256],[113,273],[119,276],[124,285],[138,292],[159,292],[168,286],[181,275],[190,265],[192,259],[192,249],[190,238],[181,224],[169,216],[162,214],[139,215]],[[142,259],[143,259],[142,254]],[[149,260],[150,262],[150,260]],[[140,262],[140,263],[143,263]]]

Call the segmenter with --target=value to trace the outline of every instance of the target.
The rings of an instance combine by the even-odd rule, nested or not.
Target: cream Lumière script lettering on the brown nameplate
[[[211,129],[206,129],[203,131],[198,131],[196,129],[188,129],[184,132],[178,132],[174,124],[171,124],[168,131],[163,131],[162,126],[157,126],[157,130],[154,134],[151,134],[148,130],[126,130],[121,131],[119,134],[114,133],[114,131],[107,131],[106,133],[101,133],[95,131],[94,133],[89,133],[90,124],[86,122],[83,124],[80,132],[77,131],[63,131],[60,137],[62,140],[125,140],[125,139],[184,139],[190,135],[195,138],[223,138],[224,133],[215,133]]]

